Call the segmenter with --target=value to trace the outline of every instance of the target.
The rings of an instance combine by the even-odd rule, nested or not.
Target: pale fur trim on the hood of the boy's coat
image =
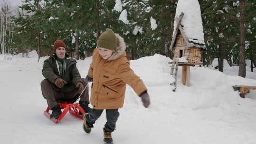
[[[107,61],[116,60],[122,54],[124,54],[124,56],[126,56],[126,53],[125,53],[126,44],[125,44],[124,38],[122,36],[119,36],[119,34],[115,33],[115,35],[117,36],[117,39],[118,39],[117,50],[110,56],[110,58],[108,58]]]

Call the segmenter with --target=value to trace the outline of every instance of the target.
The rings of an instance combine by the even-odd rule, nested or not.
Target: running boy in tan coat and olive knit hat
[[[142,99],[144,107],[150,104],[143,81],[131,70],[126,58],[124,39],[109,29],[101,34],[93,51],[93,58],[86,79],[91,85],[91,113],[83,117],[83,129],[91,127],[106,109],[107,123],[103,128],[104,142],[113,144],[111,132],[115,130],[119,117],[118,109],[123,107],[126,84],[129,84]]]

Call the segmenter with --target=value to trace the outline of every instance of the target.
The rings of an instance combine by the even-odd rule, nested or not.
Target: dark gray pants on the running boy
[[[86,122],[88,126],[93,127],[95,121],[101,116],[104,109],[91,109],[91,112],[88,115],[85,115]],[[104,126],[104,129],[107,132],[113,132],[116,129],[116,122],[119,117],[118,109],[106,109],[107,122]]]

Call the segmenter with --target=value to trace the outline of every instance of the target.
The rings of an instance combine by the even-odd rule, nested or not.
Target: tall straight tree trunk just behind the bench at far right
[[[239,0],[240,8],[240,20],[239,20],[239,31],[240,31],[240,48],[239,48],[239,72],[238,75],[241,77],[246,77],[246,67],[245,67],[245,0]]]

